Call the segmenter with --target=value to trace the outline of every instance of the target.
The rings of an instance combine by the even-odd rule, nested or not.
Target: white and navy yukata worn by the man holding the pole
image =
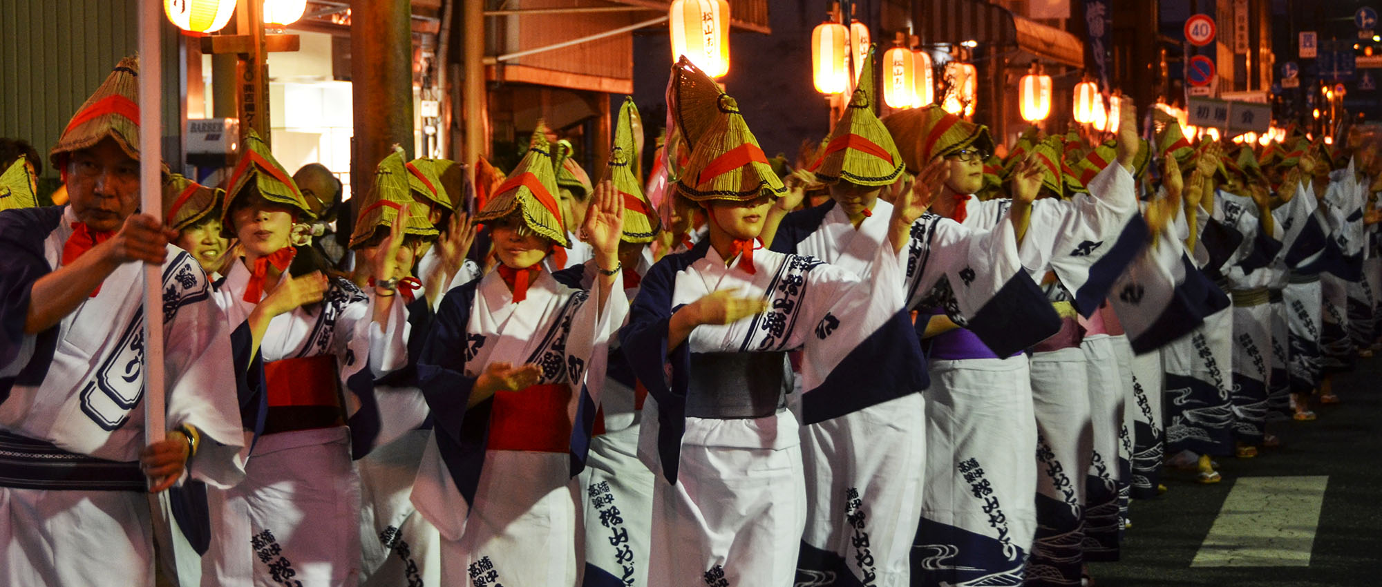
[[[29,291],[61,267],[73,222],[68,207],[0,213],[0,583],[152,587],[149,501],[137,463],[145,446],[144,265],[120,265],[57,326],[22,331]],[[229,331],[200,267],[173,246],[162,287],[167,425],[203,435],[188,478],[231,486],[243,470]],[[39,461],[58,477],[32,477]]]

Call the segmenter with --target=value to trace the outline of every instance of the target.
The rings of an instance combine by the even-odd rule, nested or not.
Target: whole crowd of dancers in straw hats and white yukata
[[[1361,134],[1193,142],[1125,99],[995,145],[879,119],[871,61],[791,163],[683,59],[598,181],[539,123],[507,174],[395,149],[348,206],[250,133],[223,188],[164,169],[159,218],[123,59],[58,206],[0,142],[0,581],[1090,584],[1165,470],[1220,481],[1371,355]]]

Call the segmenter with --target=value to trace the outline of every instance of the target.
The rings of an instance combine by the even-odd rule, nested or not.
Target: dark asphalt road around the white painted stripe
[[[1382,356],[1335,378],[1342,403],[1320,418],[1274,425],[1284,446],[1256,459],[1218,459],[1223,482],[1166,471],[1165,494],[1133,501],[1122,559],[1090,565],[1099,587],[1382,586]],[[1309,566],[1191,566],[1238,479],[1325,475]]]

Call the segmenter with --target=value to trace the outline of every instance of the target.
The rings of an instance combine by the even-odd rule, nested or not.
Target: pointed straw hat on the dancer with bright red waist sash
[[[495,193],[489,196],[484,210],[475,214],[475,222],[499,220],[520,213],[522,222],[532,232],[569,247],[567,227],[561,222],[561,207],[557,204],[557,174],[553,159],[553,145],[547,142],[547,127],[538,123],[532,131],[528,153],[518,167],[509,174]]]

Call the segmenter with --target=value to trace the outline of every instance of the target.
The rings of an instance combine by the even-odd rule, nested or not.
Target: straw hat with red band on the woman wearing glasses
[[[970,146],[994,152],[988,127],[945,112],[937,105],[894,112],[883,117],[883,126],[902,153],[907,170],[914,174],[934,157],[955,155]]]

